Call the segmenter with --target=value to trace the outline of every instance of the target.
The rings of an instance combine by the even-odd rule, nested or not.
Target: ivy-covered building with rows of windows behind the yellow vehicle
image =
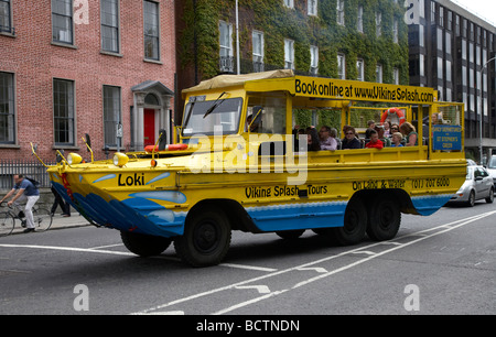
[[[239,0],[238,25],[235,0],[176,6],[179,89],[218,74],[276,68],[409,84],[402,1]]]

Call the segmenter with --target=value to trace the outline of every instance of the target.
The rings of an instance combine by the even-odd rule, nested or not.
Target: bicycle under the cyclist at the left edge
[[[1,206],[1,205],[0,205]],[[7,211],[0,211],[0,237],[7,237],[12,233],[15,227],[15,220],[21,221],[21,227],[25,227],[25,215],[23,211],[17,213],[9,206]],[[52,226],[53,215],[48,209],[33,207],[34,231],[43,232]]]

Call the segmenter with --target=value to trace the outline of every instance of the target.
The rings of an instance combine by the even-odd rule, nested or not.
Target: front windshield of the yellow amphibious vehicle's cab
[[[184,113],[183,137],[213,135],[215,127],[220,127],[223,134],[237,133],[241,109],[241,98],[190,102]]]

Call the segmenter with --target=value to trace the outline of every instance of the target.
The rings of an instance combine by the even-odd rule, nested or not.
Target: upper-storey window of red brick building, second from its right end
[[[119,53],[119,1],[101,0],[101,50]]]

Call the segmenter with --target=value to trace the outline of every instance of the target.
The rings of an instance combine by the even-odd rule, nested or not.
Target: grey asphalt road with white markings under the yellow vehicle
[[[496,205],[496,204],[495,204]],[[390,242],[233,233],[222,265],[141,259],[93,227],[0,238],[0,314],[496,314],[496,206],[405,216]]]

